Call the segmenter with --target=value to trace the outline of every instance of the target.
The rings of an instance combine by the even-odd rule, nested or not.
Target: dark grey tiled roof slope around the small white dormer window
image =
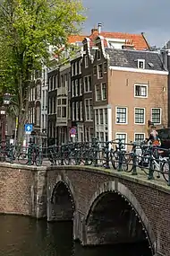
[[[138,59],[145,60],[145,69],[166,71],[160,55],[153,51],[141,51],[130,49],[105,49],[110,59],[110,66],[138,67]],[[152,65],[150,65],[152,64]]]

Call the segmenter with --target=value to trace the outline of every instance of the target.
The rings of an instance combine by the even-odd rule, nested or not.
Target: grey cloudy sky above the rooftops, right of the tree
[[[150,46],[170,40],[170,0],[82,0],[87,8],[83,32],[102,23],[103,31],[144,32]]]

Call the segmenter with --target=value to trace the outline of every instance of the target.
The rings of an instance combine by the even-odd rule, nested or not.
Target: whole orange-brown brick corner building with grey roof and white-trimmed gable
[[[160,55],[108,49],[104,43],[99,36],[93,61],[95,135],[100,140],[110,135],[125,142],[141,141],[149,135],[150,121],[157,128],[167,127],[168,72]]]

